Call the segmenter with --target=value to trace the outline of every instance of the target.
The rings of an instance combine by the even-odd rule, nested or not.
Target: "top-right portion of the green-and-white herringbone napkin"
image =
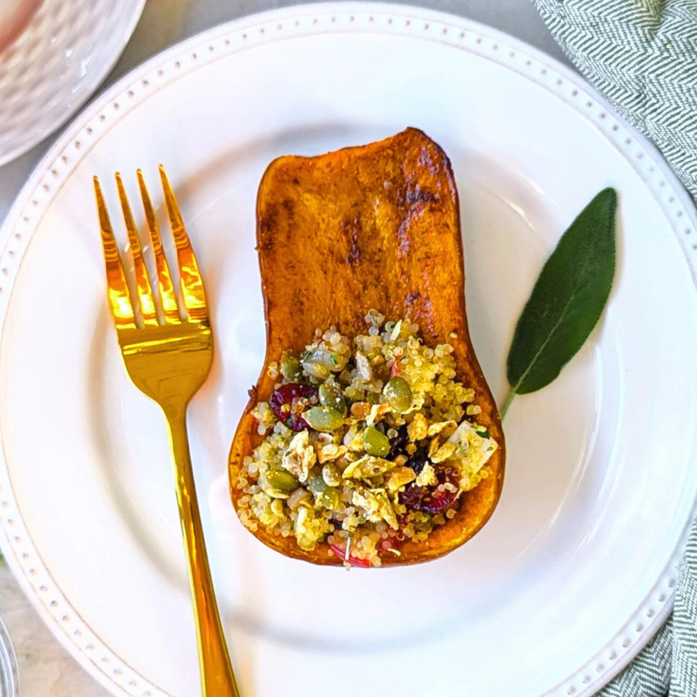
[[[533,2],[569,59],[697,200],[697,0]]]

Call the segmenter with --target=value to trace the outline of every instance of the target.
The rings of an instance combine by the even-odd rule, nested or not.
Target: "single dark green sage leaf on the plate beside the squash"
[[[599,192],[561,236],[516,324],[507,359],[510,392],[535,392],[558,376],[600,319],[615,275],[617,192]]]

